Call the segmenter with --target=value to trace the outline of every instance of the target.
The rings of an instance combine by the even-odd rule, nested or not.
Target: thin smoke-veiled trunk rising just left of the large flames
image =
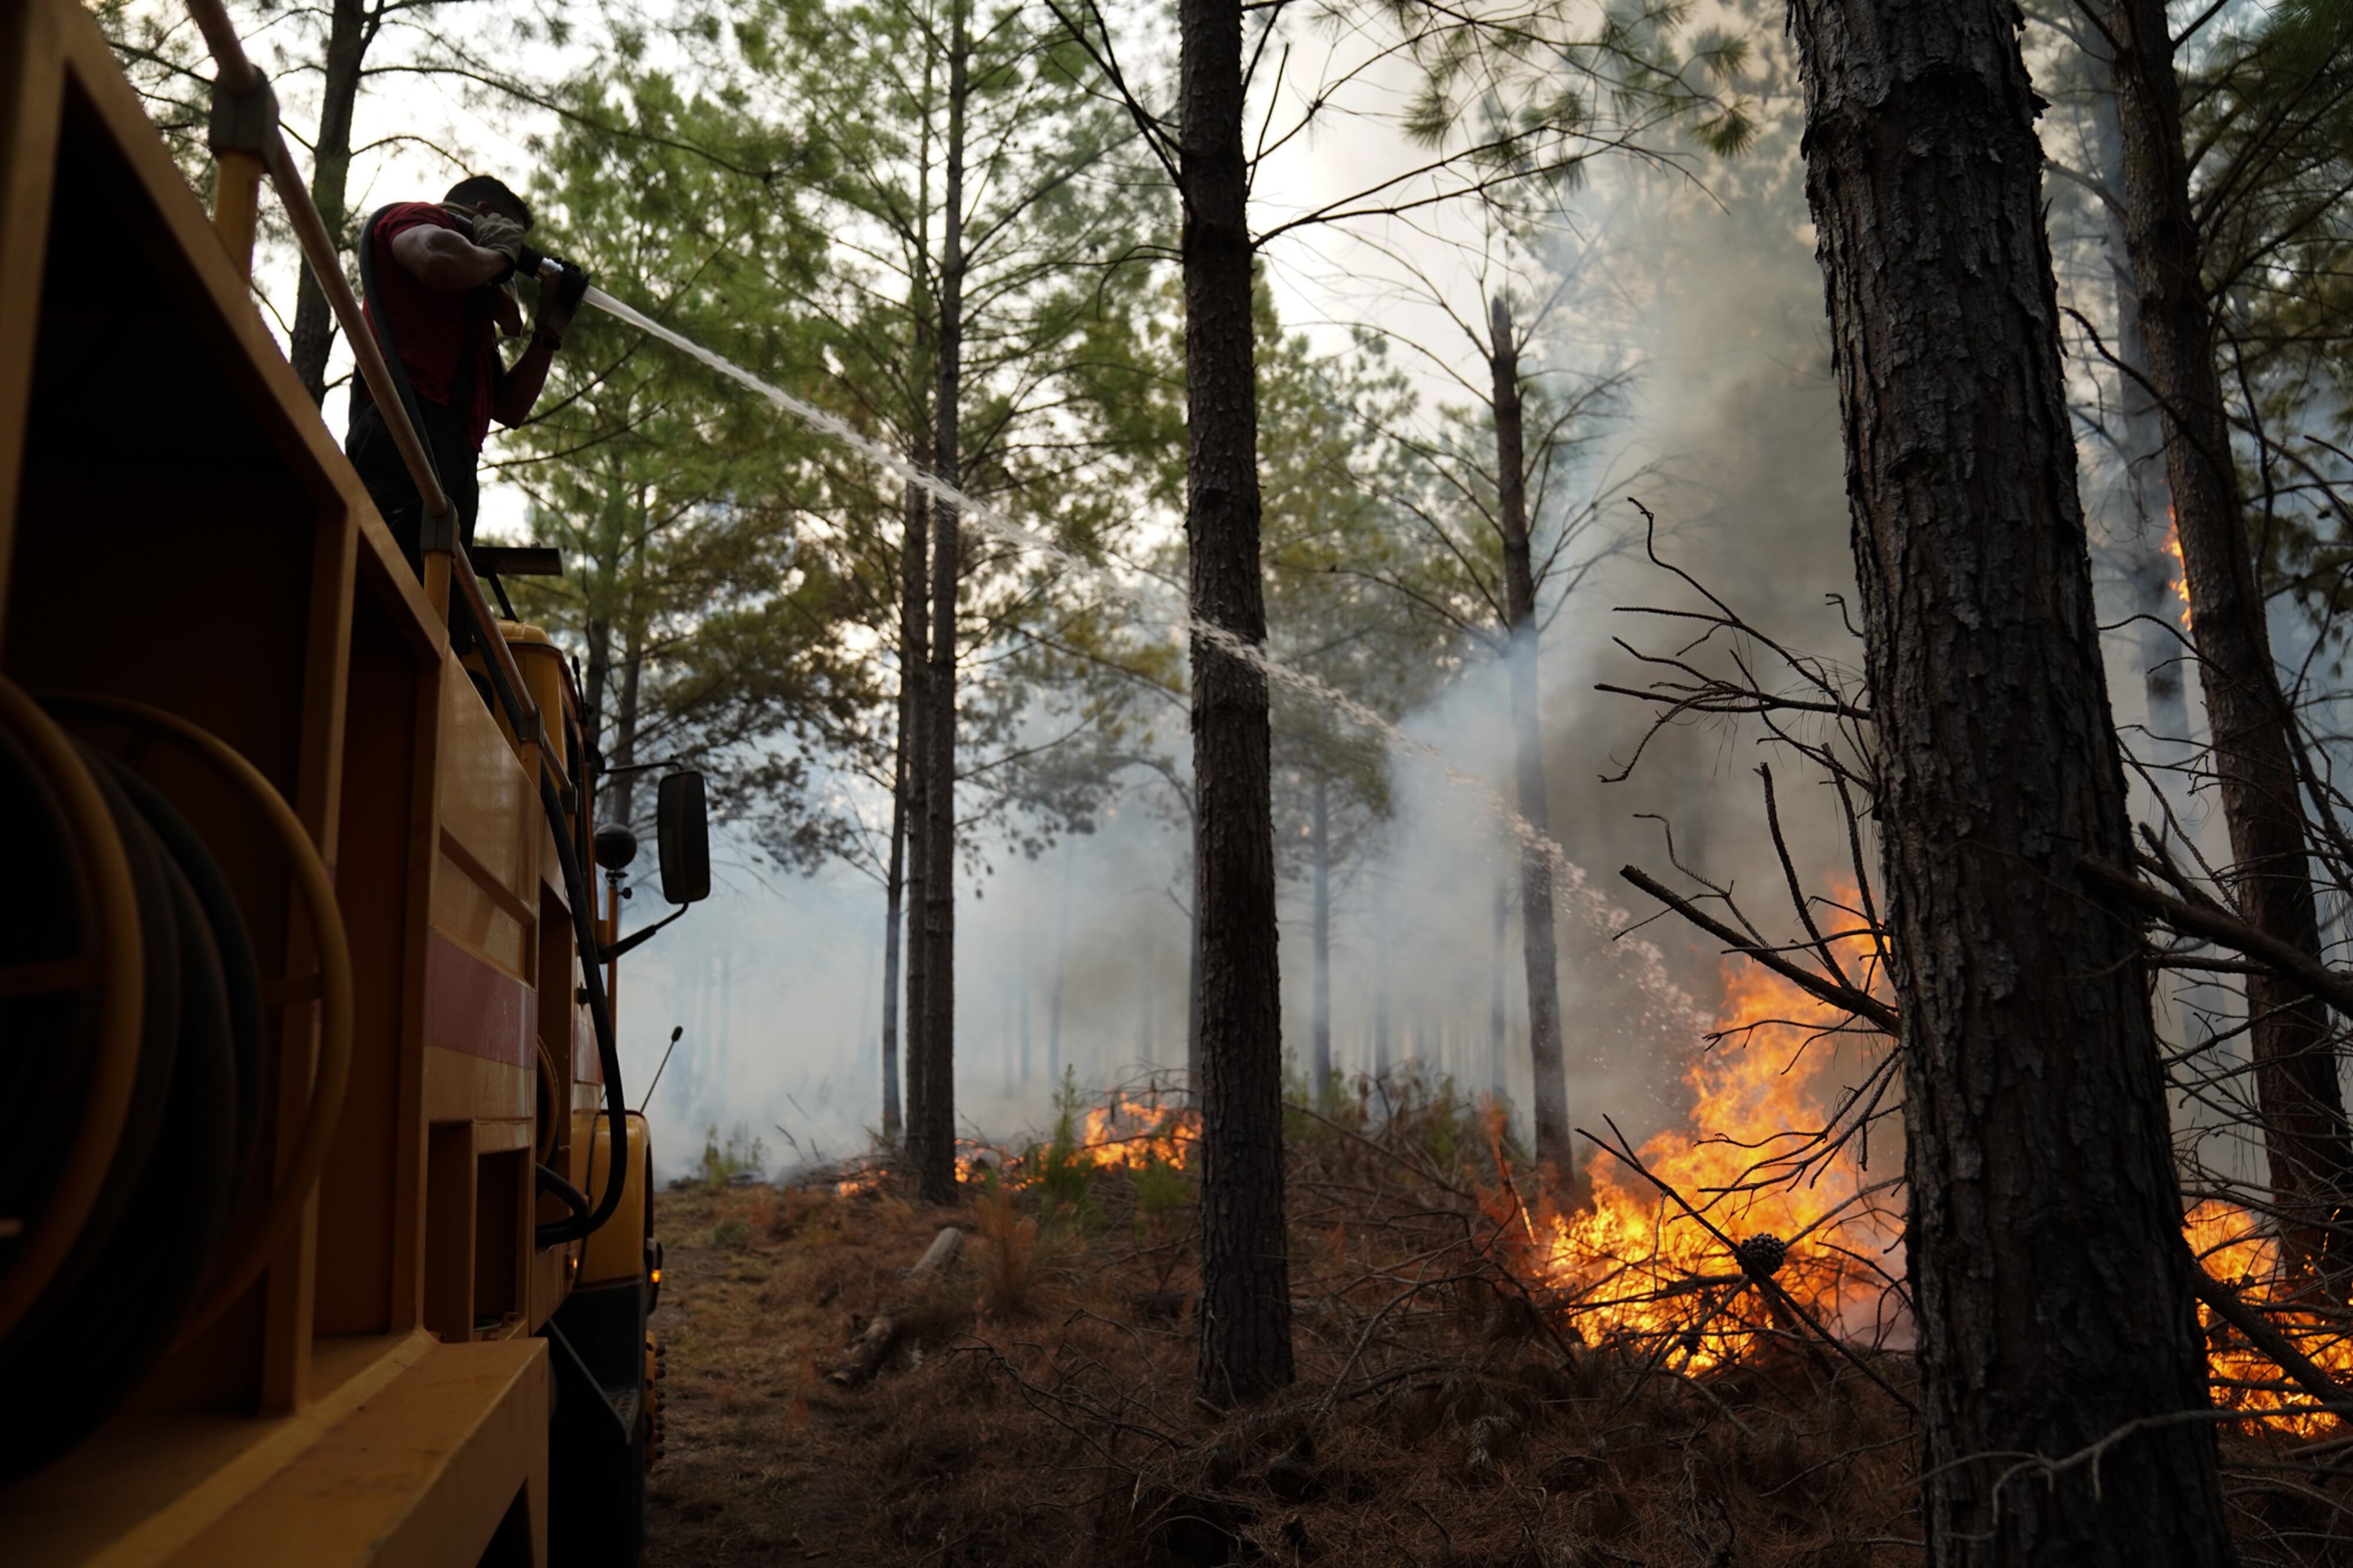
[[[1511,739],[1520,770],[1520,961],[1527,968],[1527,1064],[1534,1071],[1537,1163],[1572,1177],[1569,1081],[1560,1064],[1560,946],[1553,937],[1553,812],[1544,796],[1537,706],[1537,570],[1527,546],[1527,447],[1520,431],[1520,339],[1511,306],[1487,304],[1487,370],[1494,374],[1494,499],[1504,530],[1504,617],[1511,657]]]

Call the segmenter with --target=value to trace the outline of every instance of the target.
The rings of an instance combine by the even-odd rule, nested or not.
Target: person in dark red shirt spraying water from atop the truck
[[[513,365],[501,360],[499,337],[522,337],[515,273],[539,266],[539,252],[522,240],[529,228],[532,210],[520,195],[487,174],[473,174],[449,186],[438,205],[384,207],[360,235],[367,320],[393,360],[393,379],[407,377],[416,433],[456,511],[459,542],[468,546],[480,509],[473,469],[489,421],[515,426],[529,419],[548,363],[565,346],[572,311],[588,292],[588,273],[567,266],[539,290],[532,341]],[[358,379],[344,452],[409,558],[409,570],[421,577],[424,499],[384,426],[384,410]]]

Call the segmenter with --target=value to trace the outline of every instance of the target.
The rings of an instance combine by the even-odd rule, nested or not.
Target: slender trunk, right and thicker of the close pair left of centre
[[[948,24],[948,146],[941,191],[939,247],[939,391],[932,424],[932,471],[962,480],[958,438],[962,433],[965,351],[965,99],[967,82],[965,0],[955,0]],[[925,1203],[955,1201],[955,509],[932,509],[932,673],[925,758],[925,869],[922,885],[922,1074],[925,1104],[908,1137],[915,1191]]]

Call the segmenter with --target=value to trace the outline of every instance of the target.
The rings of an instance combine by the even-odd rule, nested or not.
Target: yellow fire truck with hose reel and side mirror
[[[398,405],[191,9],[212,214],[78,0],[0,0],[0,1561],[633,1563],[633,841],[565,657],[485,605],[546,563],[442,534],[419,582],[264,327],[268,179]],[[656,793],[689,904],[701,779]]]

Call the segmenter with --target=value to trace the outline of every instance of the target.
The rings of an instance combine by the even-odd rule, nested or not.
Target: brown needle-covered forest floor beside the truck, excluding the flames
[[[1767,1328],[1687,1373],[1664,1340],[1581,1344],[1494,1245],[1466,1121],[1301,1118],[1299,1382],[1226,1420],[1193,1401],[1191,1182],[1169,1163],[1031,1151],[958,1208],[889,1172],[661,1194],[647,1561],[1920,1561],[1901,1356]],[[951,1224],[960,1262],[906,1281]],[[828,1380],[885,1309],[896,1354]]]

